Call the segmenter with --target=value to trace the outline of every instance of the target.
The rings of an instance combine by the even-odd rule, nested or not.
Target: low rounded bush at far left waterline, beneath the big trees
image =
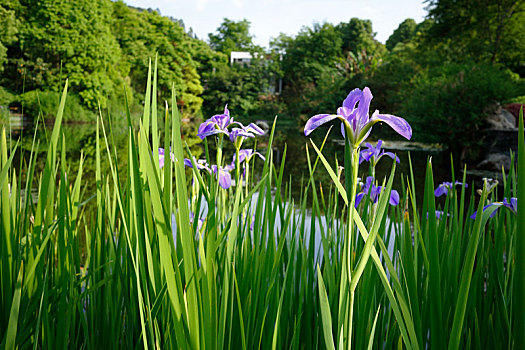
[[[18,96],[13,104],[23,108],[25,114],[36,118],[42,113],[44,119],[55,119],[60,102],[60,93],[33,90]],[[96,114],[82,106],[78,96],[68,94],[64,109],[64,121],[94,122]]]

